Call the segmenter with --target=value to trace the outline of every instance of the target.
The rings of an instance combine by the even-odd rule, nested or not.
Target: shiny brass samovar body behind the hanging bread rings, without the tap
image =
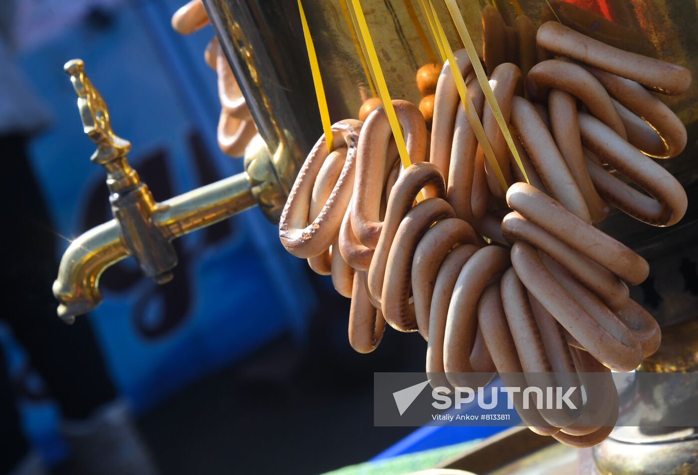
[[[426,63],[439,63],[438,50],[419,8],[419,0],[363,0],[362,7],[392,98],[419,103],[415,73]],[[262,137],[273,151],[283,136],[295,142],[299,156],[322,132],[310,67],[295,0],[205,0],[218,38],[237,80],[251,104]],[[461,47],[445,4],[434,2],[452,47]],[[511,27],[526,15],[535,27],[556,20],[625,50],[687,66],[698,77],[698,34],[695,2],[683,0],[461,0],[461,13],[475,45],[482,48],[482,8],[494,5]],[[356,118],[360,105],[375,94],[361,47],[351,27],[346,0],[306,0],[304,9],[318,54],[332,121]],[[662,98],[692,124],[698,119],[696,81],[688,93]],[[688,150],[695,155],[698,130],[690,128]],[[684,183],[698,174],[692,160],[671,160]],[[276,163],[290,173],[290,165]],[[282,180],[284,181],[284,180]]]

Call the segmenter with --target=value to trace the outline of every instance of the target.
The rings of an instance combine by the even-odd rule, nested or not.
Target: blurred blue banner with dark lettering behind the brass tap
[[[63,72],[68,59],[85,61],[115,132],[133,144],[131,164],[158,201],[242,171],[242,160],[225,156],[215,140],[216,75],[203,60],[213,31],[177,35],[169,22],[179,6],[178,0],[20,3],[20,18],[31,24],[19,35],[22,68],[54,116],[31,157],[55,232],[65,238],[60,253],[68,239],[111,218],[105,172],[89,160],[94,144],[82,134]],[[304,262],[276,236],[255,210],[176,241],[179,264],[169,285],[143,278],[133,259],[105,273],[104,301],[89,318],[112,377],[137,412],[285,331],[299,342],[306,338],[314,291]],[[26,374],[21,350],[13,348],[11,365]],[[31,437],[54,457],[60,450],[50,405],[25,409]]]

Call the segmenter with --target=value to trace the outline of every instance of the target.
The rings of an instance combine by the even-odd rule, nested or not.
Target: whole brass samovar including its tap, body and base
[[[303,2],[333,122],[356,117],[364,100],[376,96],[346,1]],[[67,321],[100,303],[99,277],[120,259],[135,257],[144,274],[165,283],[172,278],[172,268],[177,264],[172,239],[256,205],[270,220],[278,221],[297,170],[322,133],[297,0],[204,0],[204,3],[259,130],[245,151],[245,172],[156,203],[135,170],[128,166],[126,153],[130,144],[112,132],[106,105],[84,75],[84,65],[80,61],[68,63],[66,71],[79,96],[84,130],[98,146],[92,161],[107,170],[114,219],[75,239],[61,260],[54,294],[61,303],[59,316]],[[526,15],[535,27],[544,21],[558,20],[623,50],[689,68],[694,80],[688,92],[677,97],[661,97],[688,129],[686,150],[664,166],[683,183],[689,199],[695,199],[698,181],[698,167],[694,163],[698,149],[698,6],[695,1],[459,0],[458,3],[480,50],[482,10],[496,6],[505,24],[510,26],[521,15]],[[415,71],[426,63],[439,62],[437,46],[429,34],[419,0],[362,0],[361,4],[391,97],[419,103]],[[460,48],[445,4],[440,0],[433,4],[452,47]],[[671,263],[683,262],[685,256],[693,262],[689,257],[695,254],[693,247],[698,236],[695,206],[689,206],[683,222],[672,229],[648,227],[621,213],[609,218],[602,227],[644,255],[653,269],[658,269],[663,281],[654,287],[681,287],[678,264],[675,268]],[[664,287],[654,287],[633,292],[646,295],[664,292]],[[641,296],[639,301],[643,301]],[[696,304],[698,301],[692,297],[672,297],[651,308],[662,325],[664,340],[672,343],[668,347],[664,345],[657,356],[646,361],[645,370],[696,369]],[[685,441],[694,436],[685,432],[674,438],[661,435],[655,439],[622,440],[611,436],[609,444],[605,448],[605,443],[602,444],[596,452],[597,467],[605,470],[604,473],[610,473],[610,467],[615,467],[613,473],[617,467],[630,467],[631,455],[628,460],[623,459],[622,444],[653,448],[628,450],[636,461],[650,453],[653,458],[670,457],[667,454],[677,453],[679,441],[692,447],[690,453],[696,449],[695,440]],[[603,459],[604,453],[611,452],[612,458]],[[683,463],[678,460],[681,456],[676,455],[674,461]],[[671,466],[669,460],[663,469]]]

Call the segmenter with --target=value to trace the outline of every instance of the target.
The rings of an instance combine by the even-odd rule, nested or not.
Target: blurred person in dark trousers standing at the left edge
[[[47,286],[57,264],[57,233],[27,153],[29,140],[50,126],[50,114],[17,67],[14,14],[15,1],[0,7],[0,146],[3,171],[13,183],[0,192],[2,202],[11,205],[0,241],[8,250],[2,279],[7,303],[0,322],[26,350],[57,403],[60,432],[72,451],[73,468],[86,474],[154,475],[156,469],[128,405],[119,400],[107,375],[89,322],[69,329],[50,316],[53,305]],[[20,391],[11,388],[2,356],[0,471],[44,474],[40,456],[22,432],[15,398]]]

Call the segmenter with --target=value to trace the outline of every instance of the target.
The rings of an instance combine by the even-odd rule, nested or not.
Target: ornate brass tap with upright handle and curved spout
[[[60,301],[58,315],[65,322],[101,303],[99,277],[121,259],[135,257],[144,275],[163,284],[172,279],[177,265],[173,239],[257,204],[270,219],[278,219],[286,192],[274,161],[286,160],[288,146],[269,153],[265,142],[255,137],[248,146],[245,172],[157,203],[128,165],[131,143],[112,131],[107,105],[85,74],[84,63],[68,61],[65,70],[77,93],[84,133],[97,144],[91,161],[107,171],[114,215],[72,241],[61,259],[53,293]]]

